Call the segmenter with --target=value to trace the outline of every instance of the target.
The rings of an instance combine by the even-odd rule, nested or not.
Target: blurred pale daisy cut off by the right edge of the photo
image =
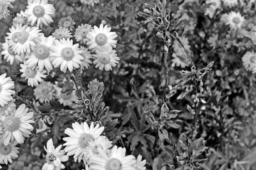
[[[252,73],[256,73],[256,53],[246,52],[242,58],[244,68]]]

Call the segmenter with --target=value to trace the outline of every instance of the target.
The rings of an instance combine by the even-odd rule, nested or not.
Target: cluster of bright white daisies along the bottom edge
[[[104,127],[94,125],[93,122],[90,126],[86,122],[75,122],[72,129],[65,129],[68,137],[63,138],[66,141],[63,144],[64,150],[61,150],[61,145],[54,148],[52,139],[49,139],[45,148],[47,162],[42,170],[63,169],[65,166],[61,162],[67,161],[70,156],[73,156],[75,162],[83,160],[86,170],[146,169],[146,160],[142,160],[141,155],[138,155],[137,159],[133,155],[125,155],[125,148],[113,146],[112,142],[102,135],[103,131]]]

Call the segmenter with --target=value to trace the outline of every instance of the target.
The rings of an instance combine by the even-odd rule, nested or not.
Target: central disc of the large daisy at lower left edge
[[[13,115],[10,115],[4,119],[3,126],[4,129],[6,129],[7,131],[16,131],[20,127],[20,119]]]

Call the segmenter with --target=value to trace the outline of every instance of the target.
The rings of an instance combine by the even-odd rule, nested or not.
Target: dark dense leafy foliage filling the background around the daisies
[[[91,64],[73,73],[56,69],[55,76],[45,78],[64,82],[67,91],[70,81],[81,78],[87,90],[97,78],[104,83],[102,101],[109,111],[89,117],[76,104],[63,106],[56,99],[40,103],[35,88],[20,77],[19,64],[2,59],[0,74],[15,81],[15,103],[40,113],[35,113],[33,134],[20,145],[19,158],[3,169],[41,169],[48,139],[63,144],[64,130],[74,121],[104,125],[109,140],[127,154],[141,154],[147,169],[255,169],[256,4],[239,0],[230,7],[225,2],[104,0],[90,6],[79,0],[49,1],[56,15],[49,27],[41,28],[45,36],[67,16],[76,22],[75,29],[102,23],[118,34],[120,61],[112,71]],[[12,4],[10,16],[0,20],[2,43],[16,13],[28,5],[25,0]],[[244,17],[241,27],[227,24],[231,11]],[[246,52],[252,52],[250,67],[243,60]],[[84,164],[70,157],[65,168],[83,169]]]

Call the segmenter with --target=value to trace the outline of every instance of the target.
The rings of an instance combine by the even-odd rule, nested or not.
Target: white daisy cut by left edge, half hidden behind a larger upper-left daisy
[[[13,52],[10,45],[8,45],[8,41],[3,43],[3,51],[1,54],[4,55],[4,59],[6,59],[7,62],[10,62],[11,65],[13,65],[14,61],[16,64],[20,64],[20,62],[23,62],[24,60],[24,57]]]

